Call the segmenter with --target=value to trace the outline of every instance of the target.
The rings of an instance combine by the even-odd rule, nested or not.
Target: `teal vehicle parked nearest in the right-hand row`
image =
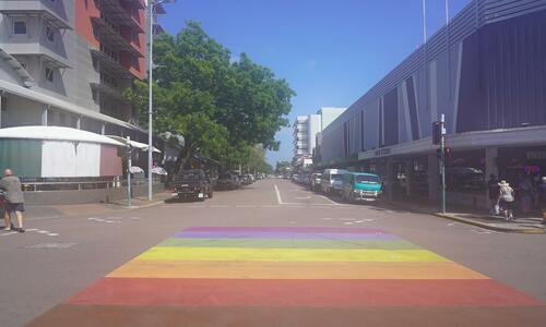
[[[377,201],[383,193],[381,179],[373,173],[346,172],[343,175],[344,201]]]

